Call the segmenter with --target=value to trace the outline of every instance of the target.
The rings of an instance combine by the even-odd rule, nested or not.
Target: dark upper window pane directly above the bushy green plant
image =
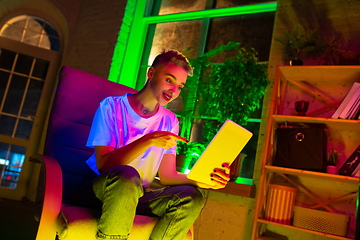
[[[259,61],[268,61],[274,17],[275,12],[211,19],[206,51],[234,41],[246,50],[254,48],[259,53]],[[231,53],[219,54],[213,60],[222,63],[229,57]]]

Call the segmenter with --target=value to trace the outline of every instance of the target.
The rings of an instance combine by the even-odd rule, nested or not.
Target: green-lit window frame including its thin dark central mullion
[[[207,5],[212,0],[207,1]],[[229,17],[253,13],[274,12],[277,2],[267,2],[229,8],[205,9],[201,11],[158,15],[161,0],[128,0],[123,23],[115,46],[108,79],[131,88],[140,90],[144,81],[144,69],[152,45],[152,38],[157,23],[203,19],[197,56],[204,53],[206,34],[210,18]],[[155,14],[154,14],[155,13]],[[200,45],[200,46],[199,46]],[[146,74],[146,73],[145,73]]]

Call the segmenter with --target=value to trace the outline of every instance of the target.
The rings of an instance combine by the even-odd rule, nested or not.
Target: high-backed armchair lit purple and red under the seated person
[[[85,146],[95,111],[107,96],[136,90],[67,66],[61,69],[49,118],[36,197],[36,240],[95,239],[100,211],[69,203],[71,192],[87,172],[93,149]],[[149,239],[157,218],[136,215],[130,240]],[[192,240],[192,229],[184,240]]]

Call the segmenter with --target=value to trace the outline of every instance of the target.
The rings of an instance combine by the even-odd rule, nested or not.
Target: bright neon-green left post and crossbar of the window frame
[[[276,11],[277,3],[262,3],[160,16],[144,16],[144,0],[128,0],[118,42],[110,67],[109,80],[135,88],[149,24],[186,21],[205,17],[225,17]]]

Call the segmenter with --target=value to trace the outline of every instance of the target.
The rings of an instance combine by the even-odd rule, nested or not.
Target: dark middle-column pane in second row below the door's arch
[[[25,87],[27,83],[27,78],[14,74],[9,91],[6,95],[5,104],[3,108],[3,112],[18,114],[21,100],[24,95]]]

